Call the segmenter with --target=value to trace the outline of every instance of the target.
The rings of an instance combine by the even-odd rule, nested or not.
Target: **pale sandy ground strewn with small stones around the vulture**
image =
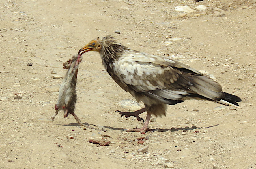
[[[207,8],[175,11],[184,5]],[[0,168],[166,168],[162,158],[177,169],[256,168],[255,11],[255,0],[1,0]],[[242,98],[241,109],[185,101],[150,122],[158,131],[122,132],[142,125],[115,113],[125,110],[119,101],[134,99],[107,74],[99,54],[88,52],[78,70],[76,114],[107,132],[84,130],[63,112],[51,121],[63,81],[53,75],[63,77],[62,62],[108,34],[132,49],[208,72],[223,91]],[[138,144],[139,137],[147,139]],[[111,144],[97,146],[89,139]],[[149,153],[138,154],[144,146]]]

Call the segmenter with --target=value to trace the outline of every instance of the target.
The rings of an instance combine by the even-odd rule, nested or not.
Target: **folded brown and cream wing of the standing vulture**
[[[225,96],[216,81],[176,60],[136,52],[125,56],[119,57],[113,70],[132,90],[150,98],[167,102],[191,94],[212,100]]]

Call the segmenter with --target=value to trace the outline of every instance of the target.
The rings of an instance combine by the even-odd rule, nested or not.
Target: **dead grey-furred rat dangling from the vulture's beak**
[[[85,125],[81,123],[80,119],[74,113],[75,104],[76,104],[76,78],[78,72],[78,66],[81,61],[81,55],[73,55],[72,59],[68,62],[63,63],[64,69],[69,69],[66,73],[63,83],[59,89],[59,98],[57,104],[55,104],[54,108],[56,110],[55,114],[51,117],[54,120],[55,116],[58,114],[59,110],[64,110],[64,118],[68,117],[68,114],[72,114],[76,121],[84,127],[96,129],[89,125]],[[96,129],[97,130],[97,129]]]

